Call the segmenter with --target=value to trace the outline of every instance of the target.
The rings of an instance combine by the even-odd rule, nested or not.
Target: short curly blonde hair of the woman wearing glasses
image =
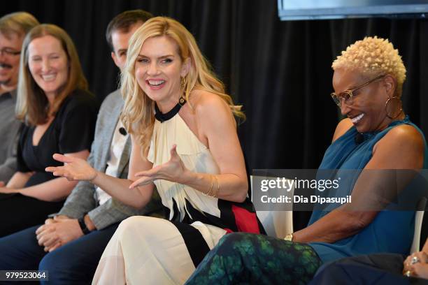
[[[406,67],[390,41],[383,38],[365,37],[349,45],[337,57],[331,68],[357,69],[371,78],[376,75],[390,74],[397,80],[395,96],[401,97],[403,83],[406,80]]]

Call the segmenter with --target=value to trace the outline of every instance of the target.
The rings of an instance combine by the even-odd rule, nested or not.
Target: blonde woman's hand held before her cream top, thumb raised
[[[169,161],[150,170],[136,173],[135,176],[141,178],[132,183],[129,188],[149,184],[159,179],[183,184],[187,171],[187,168],[177,153],[177,145],[173,145],[173,147],[171,147],[171,159],[169,159]]]

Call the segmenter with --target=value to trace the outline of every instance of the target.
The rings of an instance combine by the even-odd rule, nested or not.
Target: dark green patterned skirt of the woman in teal
[[[266,235],[225,235],[186,284],[307,284],[321,265],[308,244]]]

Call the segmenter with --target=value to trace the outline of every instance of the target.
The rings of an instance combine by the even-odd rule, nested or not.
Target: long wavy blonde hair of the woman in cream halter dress
[[[176,42],[182,62],[190,59],[190,71],[185,76],[185,85],[182,87],[186,101],[189,101],[193,90],[211,92],[226,101],[236,117],[245,119],[241,106],[234,105],[231,97],[224,93],[223,83],[213,73],[211,65],[201,54],[192,34],[176,20],[169,17],[153,17],[129,39],[127,61],[121,75],[121,91],[124,97],[122,122],[127,131],[136,136],[142,147],[142,154],[147,152],[150,146],[155,124],[155,101],[152,101],[138,85],[135,78],[135,63],[145,41],[158,36],[168,36]]]

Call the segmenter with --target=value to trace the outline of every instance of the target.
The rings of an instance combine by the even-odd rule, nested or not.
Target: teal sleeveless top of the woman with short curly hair
[[[369,162],[372,156],[373,146],[385,136],[394,126],[409,124],[414,126],[421,134],[425,142],[425,154],[427,154],[427,142],[422,131],[410,122],[408,116],[403,120],[392,122],[383,131],[363,133],[363,142],[357,144],[355,136],[357,129],[352,126],[343,136],[335,140],[324,154],[319,169],[361,170]],[[428,159],[424,155],[424,166],[427,168]],[[352,191],[356,180],[352,180],[348,189],[348,195]],[[343,194],[343,193],[341,193]],[[314,211],[308,226],[321,219],[328,211]],[[408,254],[413,240],[415,227],[414,211],[390,211],[378,212],[375,219],[359,233],[338,240],[334,243],[311,242],[311,247],[320,256],[322,262],[334,261],[347,256],[360,254],[372,254],[376,252],[390,252]]]

